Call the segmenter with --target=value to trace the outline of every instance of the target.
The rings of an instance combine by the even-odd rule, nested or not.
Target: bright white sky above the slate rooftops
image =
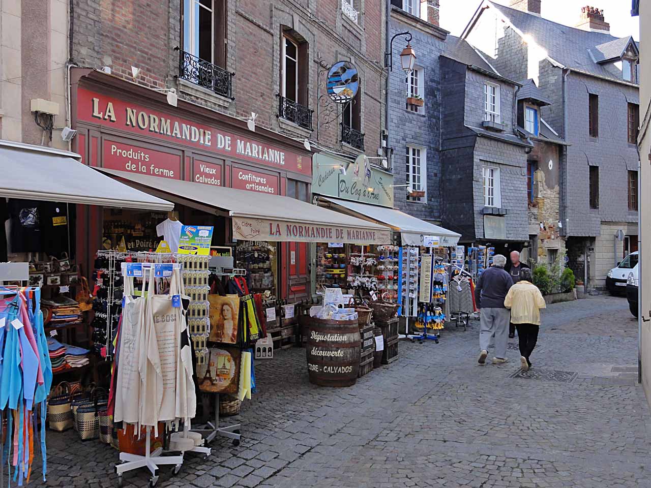
[[[508,5],[509,0],[496,0]],[[440,23],[443,29],[458,36],[464,31],[481,0],[440,0]],[[630,0],[542,0],[541,15],[549,20],[570,25],[579,20],[581,7],[591,5],[602,8],[603,16],[611,26],[611,34],[617,37],[633,35],[640,39],[639,17],[631,17]]]

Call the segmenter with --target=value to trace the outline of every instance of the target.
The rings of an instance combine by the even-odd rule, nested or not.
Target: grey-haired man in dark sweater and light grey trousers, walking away
[[[495,337],[494,364],[506,362],[506,342],[508,342],[508,322],[510,312],[504,306],[508,290],[513,286],[510,275],[504,271],[506,258],[501,254],[493,257],[492,267],[486,269],[475,286],[475,303],[480,313],[479,364],[486,362],[491,338]]]

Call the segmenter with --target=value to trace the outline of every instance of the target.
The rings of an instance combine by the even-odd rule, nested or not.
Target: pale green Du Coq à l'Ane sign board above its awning
[[[314,154],[312,193],[365,204],[393,208],[393,174],[370,164],[364,157],[355,161]],[[342,166],[346,174],[339,169]]]

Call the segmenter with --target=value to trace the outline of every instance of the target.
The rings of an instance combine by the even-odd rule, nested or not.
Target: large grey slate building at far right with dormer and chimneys
[[[612,36],[599,8],[583,7],[568,27],[542,18],[540,0],[510,5],[484,0],[462,36],[499,73],[533,79],[551,102],[540,114],[571,144],[560,180],[569,265],[600,290],[637,249],[639,48]]]

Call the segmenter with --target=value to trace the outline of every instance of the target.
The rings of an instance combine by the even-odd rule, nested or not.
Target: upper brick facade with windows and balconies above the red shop
[[[77,65],[107,66],[111,74],[130,81],[133,66],[140,70],[135,78],[140,85],[174,88],[179,98],[230,116],[247,118],[256,113],[259,126],[295,139],[310,139],[338,152],[355,155],[363,147],[369,156],[377,156],[385,120],[381,62],[385,12],[371,8],[368,0],[355,0],[353,7],[347,0],[202,2],[212,6],[215,31],[214,46],[204,49],[212,51],[212,56],[205,56],[212,59],[206,60],[195,56],[197,49],[184,46],[192,42],[186,32],[191,15],[186,4],[192,2],[71,1],[72,60]],[[298,51],[298,94],[294,98],[299,100],[286,99],[300,105],[290,104],[285,118],[279,116],[283,112],[284,37]],[[199,50],[201,43],[200,39]],[[215,92],[195,83],[196,79],[183,79],[184,60],[176,48],[193,55],[193,63],[197,57],[234,73],[229,92]],[[329,103],[324,96],[327,68],[337,61],[351,61],[359,70],[360,94],[348,123],[363,134],[363,144],[356,133],[352,141],[350,136],[344,137],[353,144],[342,141],[342,106]],[[187,59],[185,63],[187,68]]]

